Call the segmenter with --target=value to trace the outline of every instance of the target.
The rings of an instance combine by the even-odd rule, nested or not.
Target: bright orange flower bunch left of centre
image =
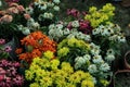
[[[21,40],[22,45],[25,46],[25,51],[22,48],[17,49],[16,52],[21,60],[31,62],[36,57],[41,57],[43,52],[50,50],[56,51],[56,42],[51,40],[48,36],[41,32],[34,32]]]

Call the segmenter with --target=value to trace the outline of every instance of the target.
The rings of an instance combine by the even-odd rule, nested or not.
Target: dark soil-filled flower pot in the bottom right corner
[[[117,71],[114,74],[114,86],[112,87],[129,87],[130,70]]]

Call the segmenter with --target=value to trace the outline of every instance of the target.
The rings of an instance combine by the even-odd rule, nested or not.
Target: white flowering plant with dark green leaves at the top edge
[[[56,14],[60,11],[58,4],[60,0],[37,0],[32,2],[31,7],[26,8],[26,11],[40,26],[49,26],[56,21]]]

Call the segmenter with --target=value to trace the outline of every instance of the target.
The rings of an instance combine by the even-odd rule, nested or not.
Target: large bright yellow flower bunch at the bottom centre
[[[30,87],[94,87],[94,79],[88,72],[75,72],[69,63],[60,63],[57,59],[35,58],[25,78],[31,82]]]

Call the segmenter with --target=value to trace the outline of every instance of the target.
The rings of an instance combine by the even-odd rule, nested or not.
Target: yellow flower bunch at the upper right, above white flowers
[[[89,14],[84,16],[84,20],[90,21],[91,26],[96,28],[101,24],[106,24],[110,22],[114,16],[115,7],[107,3],[102,9],[98,10],[95,7],[89,9]]]

